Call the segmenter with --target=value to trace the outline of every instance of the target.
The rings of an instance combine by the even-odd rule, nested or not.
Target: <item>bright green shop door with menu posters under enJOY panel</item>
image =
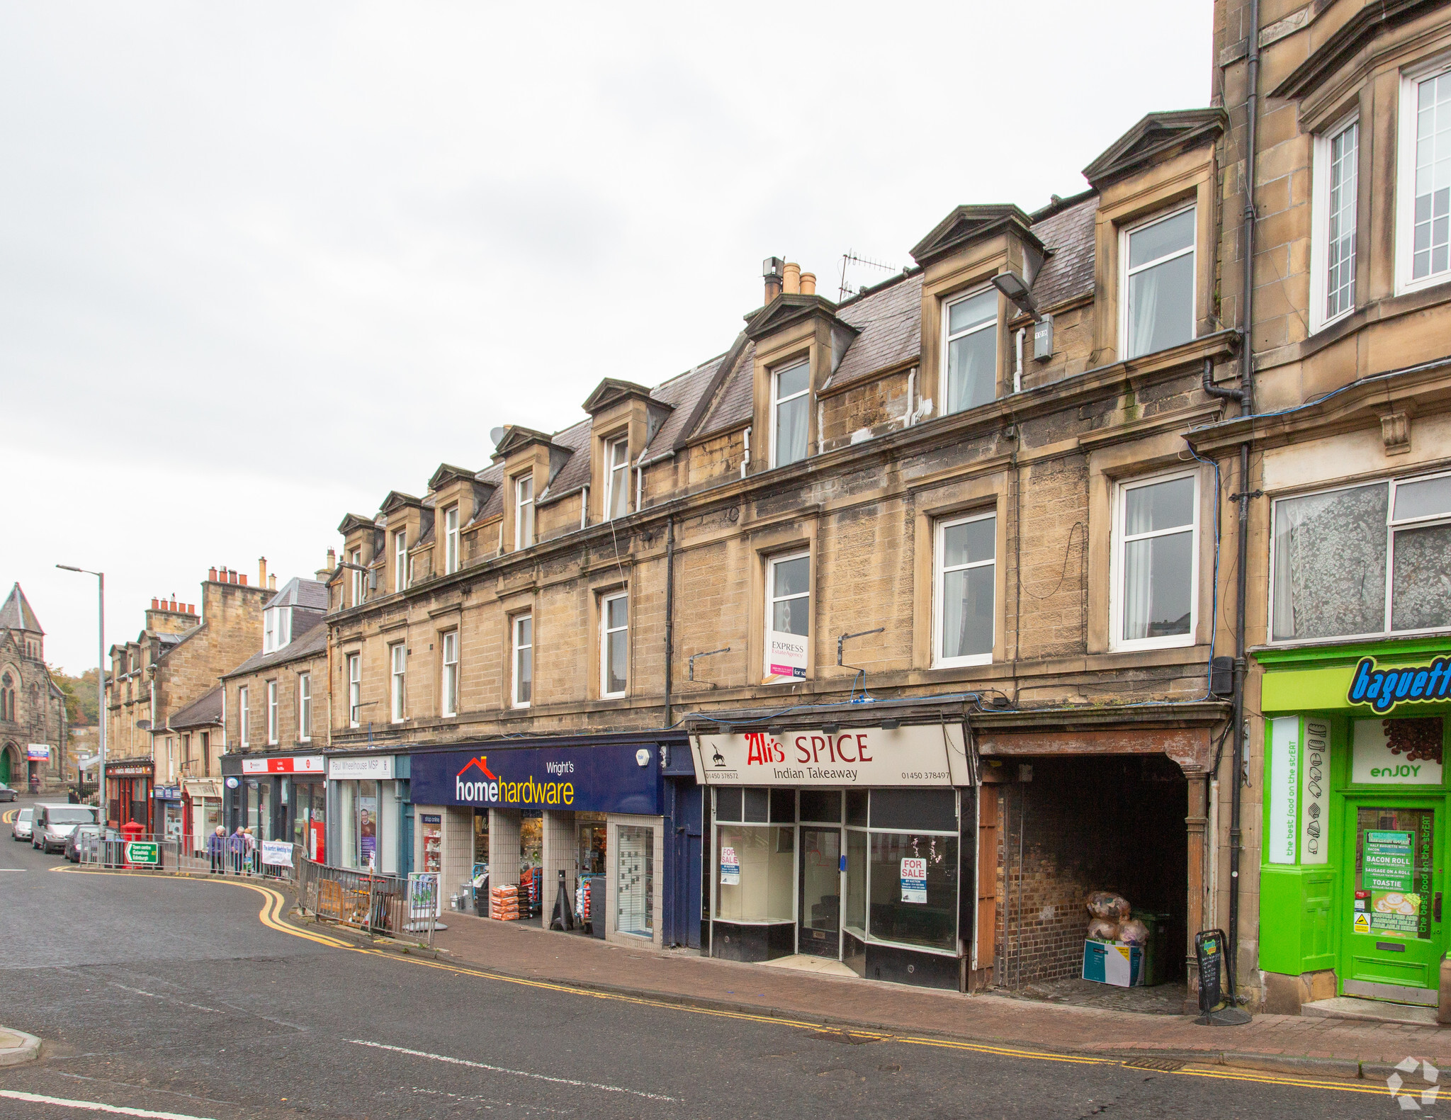
[[[1341,920],[1341,988],[1435,1005],[1444,949],[1441,878],[1445,802],[1374,796],[1347,801],[1349,882]]]

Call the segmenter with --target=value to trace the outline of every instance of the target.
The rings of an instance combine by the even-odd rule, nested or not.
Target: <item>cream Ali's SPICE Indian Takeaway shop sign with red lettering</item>
[[[695,736],[702,785],[971,785],[961,724]]]

